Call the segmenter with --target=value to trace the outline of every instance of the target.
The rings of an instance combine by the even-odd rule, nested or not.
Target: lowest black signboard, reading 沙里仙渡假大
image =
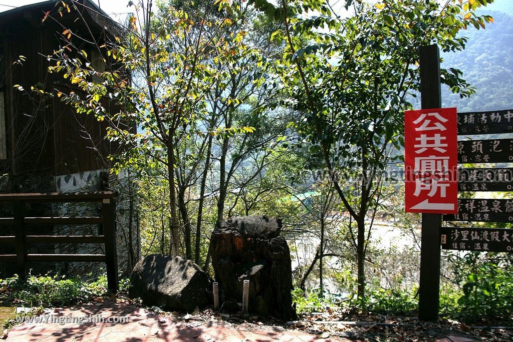
[[[462,251],[513,252],[513,229],[442,227],[442,248]]]

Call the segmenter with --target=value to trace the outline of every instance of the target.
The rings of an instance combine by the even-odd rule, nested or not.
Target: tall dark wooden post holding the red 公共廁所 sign
[[[438,46],[420,47],[422,109],[442,107]],[[440,238],[442,215],[422,214],[419,319],[437,320],[440,301]]]

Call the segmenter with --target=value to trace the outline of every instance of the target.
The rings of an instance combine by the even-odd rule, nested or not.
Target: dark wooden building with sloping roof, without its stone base
[[[90,53],[90,59],[100,62],[98,67],[105,68],[102,58],[94,58],[97,48],[87,41],[102,45],[114,36],[117,25],[91,1],[68,3],[64,7],[61,1],[47,1],[0,13],[3,174],[41,177],[108,167],[105,157],[112,146],[103,139],[107,124],[93,116],[77,115],[56,96],[45,98],[31,90],[33,86],[49,92],[73,88],[62,74],[47,71],[54,63],[47,56],[63,46],[64,28],[72,32],[72,39],[83,38],[78,44]],[[80,93],[80,89],[72,90]],[[108,98],[103,101],[106,108],[113,105]]]

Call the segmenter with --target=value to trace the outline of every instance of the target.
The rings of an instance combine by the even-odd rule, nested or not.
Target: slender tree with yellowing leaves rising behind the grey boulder
[[[169,188],[170,253],[181,254],[180,209],[187,226],[186,255],[190,257],[190,223],[184,212],[183,195],[201,160],[191,162],[191,155],[204,152],[209,135],[253,131],[251,127],[227,127],[216,132],[212,126],[202,126],[211,117],[207,94],[214,85],[223,92],[229,85],[234,60],[240,55],[250,58],[252,50],[242,42],[246,34],[242,29],[231,31],[230,39],[225,36],[225,29],[234,25],[230,17],[241,13],[238,3],[221,1],[216,15],[207,16],[211,4],[200,2],[194,12],[196,21],[185,9],[172,6],[163,6],[155,15],[151,3],[141,1],[136,6],[126,32],[117,35],[115,41],[93,42],[97,58],[107,66],[105,71],[95,68],[93,56],[81,47],[84,41],[69,29],[63,32],[65,45],[55,53],[55,66],[50,70],[62,72],[83,91],[59,92],[59,97],[78,113],[108,120],[108,138],[130,147],[111,156],[115,170],[132,168],[150,175],[165,172],[161,176]],[[132,2],[130,5],[135,6]],[[123,109],[110,113],[101,102],[105,95]],[[127,124],[136,125],[137,131],[128,130]],[[191,150],[192,136],[202,138],[200,149]],[[189,163],[189,175],[180,172],[182,163]]]

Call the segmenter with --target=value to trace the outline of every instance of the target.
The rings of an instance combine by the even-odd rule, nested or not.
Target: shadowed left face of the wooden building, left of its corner
[[[45,101],[31,91],[31,86],[43,83],[46,76],[40,55],[41,31],[33,27],[19,29],[6,39],[4,46],[13,173],[51,174],[53,116]],[[20,55],[25,56],[25,61],[16,64]],[[15,85],[25,90],[14,89]]]

